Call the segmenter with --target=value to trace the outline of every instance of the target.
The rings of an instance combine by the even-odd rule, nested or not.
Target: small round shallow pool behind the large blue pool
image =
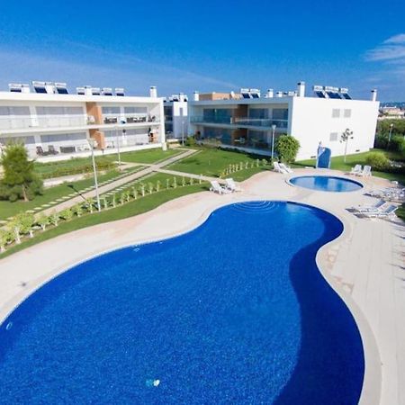
[[[352,192],[363,188],[363,185],[355,180],[334,175],[300,175],[291,178],[290,183],[311,190],[332,193]]]

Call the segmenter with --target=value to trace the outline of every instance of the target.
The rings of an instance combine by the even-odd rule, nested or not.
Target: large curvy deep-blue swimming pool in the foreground
[[[356,404],[359,331],[315,264],[341,232],[308,206],[238,203],[75,266],[0,326],[0,403]]]

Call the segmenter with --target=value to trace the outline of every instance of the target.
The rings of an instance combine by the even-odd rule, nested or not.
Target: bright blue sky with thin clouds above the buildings
[[[304,80],[400,101],[403,15],[403,0],[7,2],[0,88],[50,80],[168,95]]]

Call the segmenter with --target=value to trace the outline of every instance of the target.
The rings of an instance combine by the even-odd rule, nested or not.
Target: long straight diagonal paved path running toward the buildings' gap
[[[99,194],[103,193],[108,193],[109,191],[112,191],[118,187],[120,187],[123,184],[130,183],[133,180],[139,179],[140,177],[143,177],[144,175],[150,175],[153,172],[157,172],[161,167],[171,165],[172,163],[175,163],[177,160],[183,159],[184,157],[188,157],[190,155],[193,155],[193,153],[196,153],[196,150],[190,149],[190,150],[185,150],[184,153],[180,153],[179,155],[175,155],[174,157],[169,157],[166,160],[162,160],[161,162],[158,162],[156,164],[151,164],[151,165],[143,165],[140,164],[141,166],[147,166],[143,170],[139,170],[138,172],[135,172],[131,175],[124,175],[120,176],[117,180],[114,180],[108,184],[102,185],[101,187],[98,187],[98,192]],[[184,175],[184,174],[183,174]],[[54,211],[62,211],[65,210],[66,208],[73,207],[76,205],[76,203],[79,202],[84,202],[87,198],[94,198],[95,197],[95,189],[94,186],[88,187],[88,191],[85,193],[79,193],[79,195],[76,194],[76,197],[70,198],[67,201],[60,202],[57,205],[53,205],[52,207],[42,210],[39,212],[39,214],[45,214],[45,215],[50,215]]]

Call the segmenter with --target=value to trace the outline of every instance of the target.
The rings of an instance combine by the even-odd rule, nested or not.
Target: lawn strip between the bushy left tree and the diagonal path
[[[137,168],[140,169],[141,167]],[[128,173],[133,172],[134,170],[128,171]],[[102,183],[105,181],[112,180],[113,178],[121,175],[122,172],[117,170],[111,170],[105,175],[98,176],[98,182]],[[76,182],[67,182],[64,184],[55,185],[53,187],[46,188],[43,195],[37,195],[32,201],[23,202],[9,202],[9,201],[0,201],[0,220],[5,220],[9,217],[16,215],[21,211],[32,210],[35,207],[39,207],[42,204],[46,204],[52,201],[57,200],[58,198],[64,197],[65,195],[74,193],[75,190],[83,190],[86,187],[89,187],[94,184],[93,175],[89,175],[88,178],[84,180],[79,180]]]

